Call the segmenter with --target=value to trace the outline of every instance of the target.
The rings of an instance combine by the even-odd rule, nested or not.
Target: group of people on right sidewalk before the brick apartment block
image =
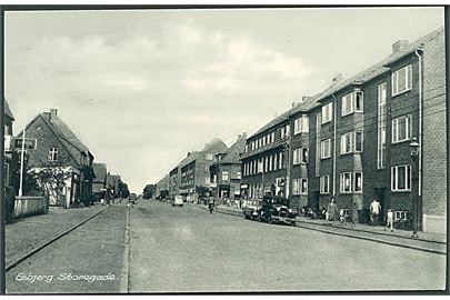
[[[372,199],[372,202],[369,207],[370,213],[370,226],[379,226],[380,214],[381,214],[381,204],[378,202],[377,198]],[[322,216],[328,221],[340,221],[340,222],[351,222],[353,224],[359,223],[358,206],[353,202],[351,209],[348,210],[348,213],[344,210],[339,210],[334,199],[331,199],[327,209],[322,209]],[[390,228],[393,231],[393,212],[391,209],[387,210],[386,217],[386,228]]]

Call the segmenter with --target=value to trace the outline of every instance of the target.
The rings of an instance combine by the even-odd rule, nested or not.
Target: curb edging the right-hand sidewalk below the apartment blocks
[[[201,208],[201,207],[199,207],[199,208]],[[216,211],[218,213],[222,213],[222,214],[241,217],[241,214],[240,213],[238,214],[238,212],[234,213],[232,211],[223,211],[223,210],[220,210],[220,208],[216,209]],[[302,223],[302,224],[299,224],[299,223]],[[310,224],[310,227],[304,226],[304,224]],[[314,231],[319,231],[319,232],[323,232],[323,233],[328,233],[328,234],[336,234],[336,236],[353,238],[353,239],[359,239],[359,240],[368,240],[368,241],[379,242],[379,243],[389,244],[389,246],[397,246],[397,247],[401,247],[401,248],[413,249],[413,250],[423,251],[423,252],[430,252],[430,253],[436,253],[436,254],[447,254],[447,251],[423,248],[423,247],[420,247],[420,246],[404,244],[404,243],[400,243],[400,242],[384,241],[384,240],[381,240],[381,239],[376,239],[376,238],[370,238],[370,237],[358,237],[358,236],[353,236],[353,234],[350,234],[350,233],[337,232],[337,231],[332,231],[332,230],[323,230],[323,229],[320,229],[320,228],[312,228],[314,226],[316,227],[324,227],[326,224],[316,224],[316,223],[308,223],[308,222],[304,222],[304,221],[297,221],[296,227],[302,228],[302,229],[308,229],[308,230],[314,230]],[[348,230],[348,231],[359,231],[359,232],[378,234],[378,236],[388,236],[388,237],[393,237],[393,238],[408,239],[406,237],[398,237],[398,236],[392,236],[392,234],[383,234],[381,232],[372,232],[372,231],[367,231],[367,230],[352,230],[352,229],[349,229],[349,228],[337,228],[337,227],[332,227],[332,228],[336,228],[338,230],[339,229],[344,229],[344,230]],[[418,240],[419,241],[424,241],[424,242],[431,242],[431,243],[447,244],[447,243],[440,242],[440,241],[429,241],[429,240],[423,240],[423,239],[418,239]]]

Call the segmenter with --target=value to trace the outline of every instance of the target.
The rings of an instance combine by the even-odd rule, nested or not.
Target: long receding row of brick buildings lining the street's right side
[[[351,78],[337,76],[229,149],[220,142],[189,153],[158,188],[187,197],[199,184],[217,197],[280,194],[317,211],[334,199],[344,211],[367,212],[377,198],[396,220],[410,219],[416,202],[419,228],[444,232],[446,104],[440,28],[397,41],[383,60]]]

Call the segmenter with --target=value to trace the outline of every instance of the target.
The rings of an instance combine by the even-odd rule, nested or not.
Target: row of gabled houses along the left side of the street
[[[106,163],[94,162],[94,156],[73,131],[58,116],[57,109],[36,116],[14,138],[12,124],[14,118],[4,101],[4,179],[16,194],[26,190],[28,177],[20,177],[21,150],[24,141],[24,172],[42,173],[49,204],[70,208],[80,203],[88,204],[101,197],[110,188],[119,194],[120,177],[111,174]],[[46,176],[43,176],[46,173]],[[44,179],[46,177],[47,179]],[[49,178],[52,177],[52,178]],[[21,179],[23,178],[23,179]],[[58,184],[61,181],[61,184]],[[42,183],[42,182],[41,182]],[[61,190],[58,190],[61,189]],[[36,192],[36,191],[29,191]]]

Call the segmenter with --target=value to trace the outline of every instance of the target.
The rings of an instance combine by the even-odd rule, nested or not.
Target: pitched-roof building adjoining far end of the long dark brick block
[[[217,153],[216,160],[209,168],[211,192],[217,198],[232,200],[241,197],[241,162],[247,133],[239,134],[238,140],[223,153]]]

